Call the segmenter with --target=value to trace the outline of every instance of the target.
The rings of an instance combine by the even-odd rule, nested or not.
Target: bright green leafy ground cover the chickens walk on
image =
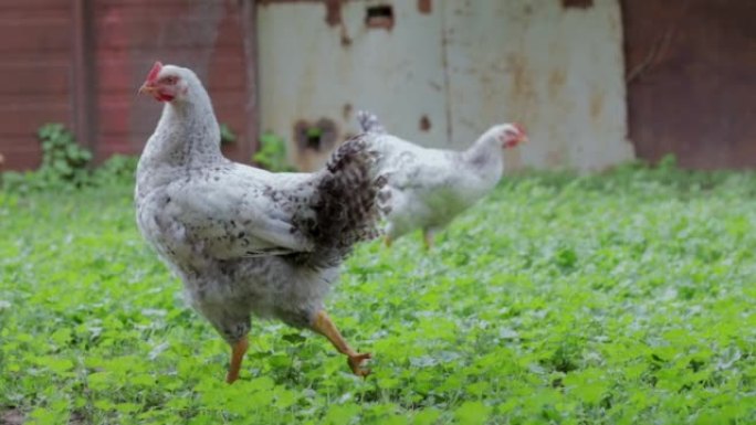
[[[752,174],[507,180],[431,253],[349,259],[328,308],[367,380],[256,321],[231,386],[130,191],[0,193],[0,423],[756,423]]]

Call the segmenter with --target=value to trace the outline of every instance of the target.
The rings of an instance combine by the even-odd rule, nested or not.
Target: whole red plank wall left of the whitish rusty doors
[[[191,67],[220,123],[223,147],[250,161],[256,142],[251,0],[0,1],[0,155],[3,169],[40,163],[36,129],[63,123],[103,160],[139,153],[161,105],[136,92],[156,60]],[[246,45],[245,45],[246,43]],[[252,75],[252,77],[251,77]]]

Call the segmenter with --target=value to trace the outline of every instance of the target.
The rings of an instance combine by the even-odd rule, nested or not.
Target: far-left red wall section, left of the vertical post
[[[39,166],[36,129],[73,127],[71,0],[0,2],[0,155],[6,168]]]

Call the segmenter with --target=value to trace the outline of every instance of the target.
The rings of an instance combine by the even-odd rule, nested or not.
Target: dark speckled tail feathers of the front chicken
[[[318,173],[312,205],[315,216],[306,225],[315,249],[301,254],[300,261],[336,265],[355,244],[380,234],[377,196],[386,178],[380,176],[380,156],[370,140],[366,134],[347,140]]]

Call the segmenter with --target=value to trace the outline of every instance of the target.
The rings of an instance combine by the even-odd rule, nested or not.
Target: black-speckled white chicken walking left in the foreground
[[[208,93],[193,72],[156,63],[139,93],[165,103],[137,168],[137,224],[181,278],[190,305],[231,346],[239,378],[252,316],[325,336],[366,375],[324,297],[353,246],[378,236],[385,178],[371,136],[342,145],[314,173],[271,173],[221,155]]]

